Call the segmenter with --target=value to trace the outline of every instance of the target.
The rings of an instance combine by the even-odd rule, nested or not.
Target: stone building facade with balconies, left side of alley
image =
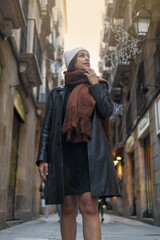
[[[1,229],[40,213],[35,160],[47,94],[60,74],[50,63],[62,66],[65,31],[65,0],[0,2]]]

